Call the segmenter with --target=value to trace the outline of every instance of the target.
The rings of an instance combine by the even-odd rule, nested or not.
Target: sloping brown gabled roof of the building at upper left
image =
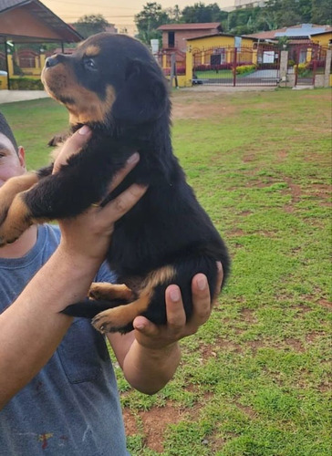
[[[1,30],[1,15],[15,8],[24,8],[38,21],[47,26],[52,32],[55,32],[59,39],[49,36],[26,36],[20,24],[16,24],[15,30],[11,34],[4,33]],[[16,43],[20,42],[46,42],[46,41],[64,41],[67,43],[78,43],[83,39],[79,33],[69,26],[60,17],[55,15],[46,5],[39,0],[0,0],[0,41],[13,39]]]

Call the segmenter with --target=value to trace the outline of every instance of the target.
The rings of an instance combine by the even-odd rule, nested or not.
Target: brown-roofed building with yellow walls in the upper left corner
[[[8,49],[15,49],[16,44],[39,43],[41,45],[53,42],[63,49],[65,43],[78,43],[81,40],[82,36],[76,30],[68,26],[39,0],[1,0],[0,69],[5,70],[7,76],[0,77],[0,88],[10,88],[15,62],[13,54]],[[40,55],[30,53],[22,58],[22,61],[28,63],[26,71],[32,77],[39,78],[45,57],[43,60]],[[17,65],[19,63],[19,61],[16,62]],[[25,70],[25,68],[21,69]]]

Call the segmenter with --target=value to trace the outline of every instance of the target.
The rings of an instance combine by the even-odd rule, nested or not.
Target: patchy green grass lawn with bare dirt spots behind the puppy
[[[172,97],[175,152],[233,273],[159,394],[116,368],[130,452],[330,456],[330,91]],[[1,110],[29,166],[44,164],[65,110],[49,99]]]

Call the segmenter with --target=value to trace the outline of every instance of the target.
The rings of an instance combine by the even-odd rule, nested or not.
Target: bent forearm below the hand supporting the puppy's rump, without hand
[[[154,394],[173,377],[179,366],[178,343],[151,349],[134,340],[123,362],[123,372],[130,385],[145,394]]]

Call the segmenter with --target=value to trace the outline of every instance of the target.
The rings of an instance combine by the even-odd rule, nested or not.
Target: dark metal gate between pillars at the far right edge
[[[295,85],[314,86],[316,75],[324,74],[327,48],[316,44],[292,47],[288,54],[288,73],[295,75]]]

